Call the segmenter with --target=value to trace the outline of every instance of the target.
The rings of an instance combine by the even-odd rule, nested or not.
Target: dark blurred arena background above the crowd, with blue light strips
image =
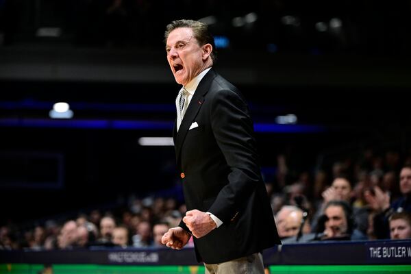
[[[130,196],[182,201],[173,147],[140,139],[172,134],[179,86],[163,40],[179,18],[210,26],[214,67],[249,102],[275,191],[305,178],[314,199],[336,163],[406,161],[410,11],[407,0],[0,0],[0,225]],[[53,118],[58,102],[71,118]]]

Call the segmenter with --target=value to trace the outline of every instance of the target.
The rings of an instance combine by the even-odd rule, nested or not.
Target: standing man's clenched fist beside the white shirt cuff
[[[210,215],[199,210],[190,210],[186,212],[183,222],[186,223],[188,229],[190,229],[190,232],[196,238],[206,236],[212,229],[217,227]]]

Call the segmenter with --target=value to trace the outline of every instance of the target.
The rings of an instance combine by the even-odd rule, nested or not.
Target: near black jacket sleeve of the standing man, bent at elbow
[[[232,90],[220,90],[210,108],[212,131],[229,166],[227,184],[208,210],[228,222],[241,214],[241,203],[260,183],[260,168],[253,138],[253,123],[245,101]]]

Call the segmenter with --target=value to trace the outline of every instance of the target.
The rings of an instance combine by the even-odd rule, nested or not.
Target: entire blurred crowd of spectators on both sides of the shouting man
[[[372,149],[290,176],[293,167],[278,155],[266,189],[283,243],[323,240],[411,238],[411,157]],[[271,178],[271,179],[270,179]],[[169,227],[186,211],[173,197],[130,196],[127,205],[96,208],[75,217],[49,219],[32,227],[0,227],[0,249],[160,247]],[[188,246],[192,246],[192,242]]]

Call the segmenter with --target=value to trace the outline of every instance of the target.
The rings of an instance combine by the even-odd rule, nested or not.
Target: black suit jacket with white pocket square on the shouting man
[[[189,129],[194,122],[199,126]],[[223,221],[194,238],[197,260],[227,262],[281,243],[258,166],[249,108],[235,86],[210,69],[173,137],[187,210],[208,211]],[[183,222],[180,226],[189,231]]]

